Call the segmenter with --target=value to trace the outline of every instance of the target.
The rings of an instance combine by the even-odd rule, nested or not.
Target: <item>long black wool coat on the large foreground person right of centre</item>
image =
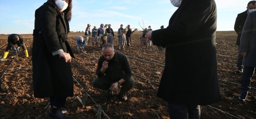
[[[207,105],[220,100],[216,28],[214,0],[183,0],[168,27],[152,32],[153,44],[166,47],[158,97],[171,104]]]

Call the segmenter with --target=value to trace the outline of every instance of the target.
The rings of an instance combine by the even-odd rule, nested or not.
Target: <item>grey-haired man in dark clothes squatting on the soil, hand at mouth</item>
[[[102,46],[103,55],[99,58],[96,70],[97,78],[93,79],[93,86],[107,90],[106,98],[113,95],[121,85],[120,100],[126,101],[126,93],[134,86],[131,77],[131,67],[127,56],[116,52],[113,44],[106,43]]]

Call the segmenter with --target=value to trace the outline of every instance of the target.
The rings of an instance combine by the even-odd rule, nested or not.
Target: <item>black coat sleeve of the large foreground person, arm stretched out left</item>
[[[167,28],[152,32],[153,44],[164,46],[188,42],[191,40],[188,37],[201,30],[208,19],[216,19],[214,18],[215,16],[212,16],[212,14],[216,14],[216,4],[214,1],[189,0],[184,2],[182,8],[181,6],[178,8],[178,10],[182,11],[177,14],[180,16],[178,22],[169,24]],[[198,7],[198,2],[202,4],[200,7]]]

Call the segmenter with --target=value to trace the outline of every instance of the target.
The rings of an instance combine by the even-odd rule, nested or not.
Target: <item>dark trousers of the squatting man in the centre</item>
[[[104,75],[100,78],[97,77],[97,78],[93,79],[92,84],[96,88],[103,89],[103,90],[108,90],[111,87],[111,85],[115,82],[116,81],[113,82],[113,80],[108,79],[106,77],[106,75]],[[134,83],[135,83],[135,81],[132,77],[130,79],[128,79],[128,81],[122,83],[121,84],[121,86],[122,86],[121,87],[121,92],[129,91],[134,86]]]

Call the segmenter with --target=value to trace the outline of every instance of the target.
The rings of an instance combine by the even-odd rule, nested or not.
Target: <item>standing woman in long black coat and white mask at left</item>
[[[72,0],[48,0],[35,12],[33,32],[33,89],[38,98],[50,97],[49,115],[62,119],[66,98],[74,95],[67,41]]]

